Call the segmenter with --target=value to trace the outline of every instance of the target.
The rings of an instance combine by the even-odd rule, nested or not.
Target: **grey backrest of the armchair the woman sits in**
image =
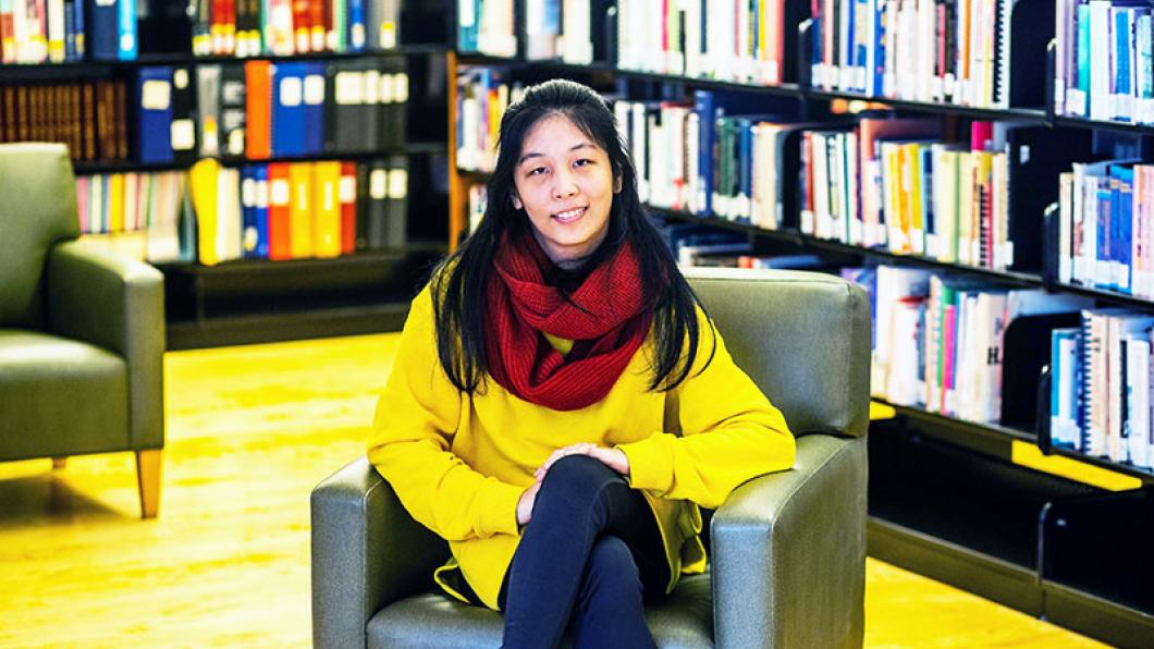
[[[795,435],[863,435],[869,424],[865,291],[819,273],[685,271],[739,367]]]

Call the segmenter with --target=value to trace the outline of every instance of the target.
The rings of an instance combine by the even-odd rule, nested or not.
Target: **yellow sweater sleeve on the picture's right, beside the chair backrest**
[[[679,400],[682,434],[654,433],[619,448],[635,488],[715,508],[737,485],[792,468],[796,445],[781,411],[734,364],[700,311],[698,324],[692,370],[667,396]]]

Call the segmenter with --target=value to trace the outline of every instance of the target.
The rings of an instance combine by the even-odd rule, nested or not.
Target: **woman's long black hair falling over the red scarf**
[[[585,267],[601,263],[625,240],[632,244],[642,269],[639,279],[649,303],[646,308],[653,309],[655,345],[650,389],[673,389],[689,376],[697,357],[700,331],[696,307],[699,301],[642,208],[637,173],[619,137],[613,112],[592,89],[563,80],[529,88],[524,98],[505,111],[485,217],[460,248],[434,271],[433,313],[441,366],[452,385],[469,394],[482,385],[488,373],[486,283],[500,281],[493,278],[493,258],[504,237],[518,236],[532,227],[525,210],[514,207],[514,173],[530,129],[553,115],[568,118],[608,154],[613,177],[620,181],[621,191],[613,195],[605,240],[585,261]],[[710,350],[709,360],[714,351],[715,345]]]

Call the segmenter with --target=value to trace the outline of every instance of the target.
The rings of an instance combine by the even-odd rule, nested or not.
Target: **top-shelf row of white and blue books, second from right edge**
[[[1012,0],[815,0],[811,83],[1003,109]]]

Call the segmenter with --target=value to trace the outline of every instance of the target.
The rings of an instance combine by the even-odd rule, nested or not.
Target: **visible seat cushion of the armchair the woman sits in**
[[[667,597],[645,606],[661,649],[713,646],[710,576],[685,575]],[[480,606],[450,600],[440,592],[409,597],[385,606],[368,622],[369,648],[465,649],[501,646],[503,619]],[[570,647],[564,642],[562,647]]]

